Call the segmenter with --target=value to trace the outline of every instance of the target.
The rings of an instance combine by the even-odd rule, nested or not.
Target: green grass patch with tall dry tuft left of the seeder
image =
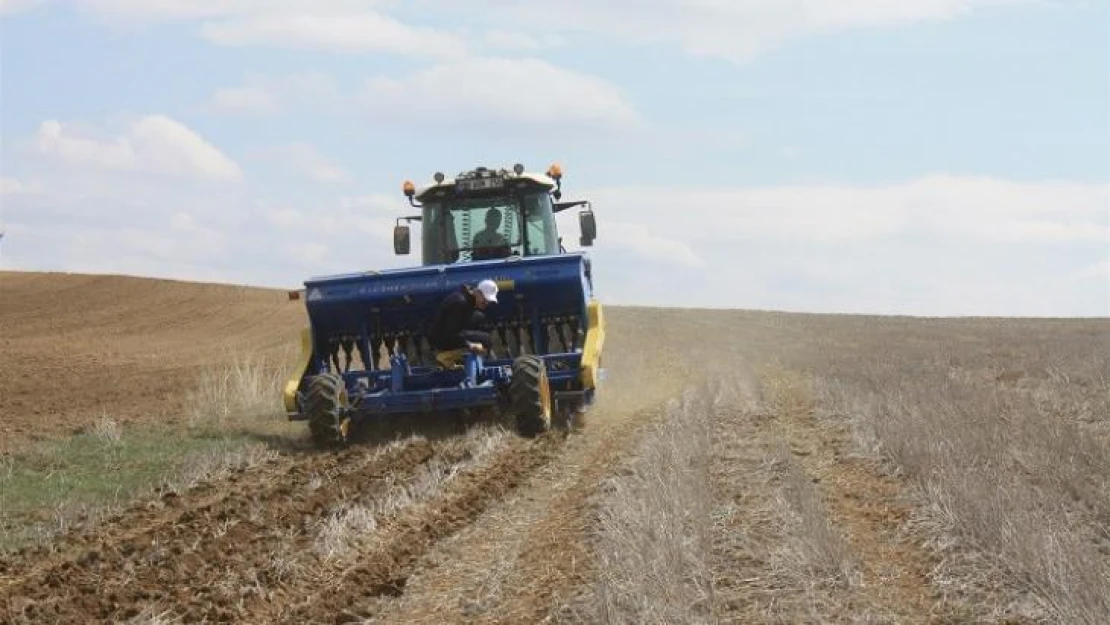
[[[111,415],[74,436],[0,458],[0,553],[95,523],[158,487],[249,464],[292,444],[302,429],[284,420],[283,376],[254,357],[201,373],[186,391],[184,426],[123,427]]]

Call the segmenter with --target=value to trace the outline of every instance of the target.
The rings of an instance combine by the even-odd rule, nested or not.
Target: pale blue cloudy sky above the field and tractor
[[[1108,316],[1110,0],[0,0],[0,270],[411,265],[517,162],[606,303]]]

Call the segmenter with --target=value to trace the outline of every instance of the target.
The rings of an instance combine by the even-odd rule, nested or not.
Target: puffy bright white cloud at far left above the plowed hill
[[[36,148],[63,163],[87,169],[218,181],[242,178],[235,161],[165,115],[143,117],[113,139],[83,137],[62,122],[48,120],[39,127]]]

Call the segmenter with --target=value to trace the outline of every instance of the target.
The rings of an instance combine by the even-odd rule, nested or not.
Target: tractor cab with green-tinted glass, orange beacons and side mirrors
[[[561,168],[546,173],[477,168],[447,179],[442,172],[435,183],[416,191],[405,181],[403,191],[420,215],[400,218],[393,233],[394,251],[410,253],[407,224],[418,221],[423,265],[454,264],[523,256],[547,256],[565,252],[555,214],[585,206],[579,215],[581,243],[593,244],[596,224],[588,202],[559,202]]]

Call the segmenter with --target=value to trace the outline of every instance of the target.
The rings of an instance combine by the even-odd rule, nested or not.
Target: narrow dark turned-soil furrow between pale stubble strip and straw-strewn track
[[[303,601],[266,606],[252,615],[273,623],[355,623],[372,617],[381,602],[404,593],[421,557],[435,544],[472,524],[492,504],[558,455],[563,437],[551,433],[534,441],[511,438],[506,448],[480,466],[456,475],[431,501],[383,520],[362,545],[359,562],[321,571]],[[286,591],[287,593],[287,591]]]

